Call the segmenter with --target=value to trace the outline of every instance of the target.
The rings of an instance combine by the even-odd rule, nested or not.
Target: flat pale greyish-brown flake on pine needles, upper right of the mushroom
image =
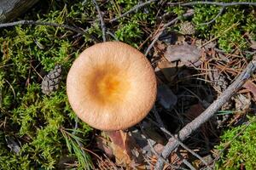
[[[164,56],[169,62],[180,61],[181,65],[197,65],[201,58],[201,49],[189,44],[169,45]]]

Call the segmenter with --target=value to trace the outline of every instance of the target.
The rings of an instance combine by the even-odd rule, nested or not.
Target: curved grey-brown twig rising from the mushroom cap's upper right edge
[[[147,56],[150,49],[153,48],[154,46],[154,43],[158,40],[158,38],[160,37],[160,35],[163,33],[163,31],[166,30],[166,28],[168,26],[171,26],[172,24],[174,24],[175,22],[177,22],[177,20],[180,20],[181,18],[185,18],[185,17],[189,17],[189,16],[192,16],[194,14],[194,11],[191,10],[189,12],[187,12],[186,14],[183,14],[182,16],[178,16],[177,18],[171,20],[170,22],[166,23],[161,29],[160,31],[157,33],[157,35],[154,37],[154,40],[150,43],[150,45],[148,46],[146,52],[145,52],[145,55]]]

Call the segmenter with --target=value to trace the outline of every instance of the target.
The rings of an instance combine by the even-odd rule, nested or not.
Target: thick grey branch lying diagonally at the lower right
[[[189,135],[193,133],[198,127],[205,122],[207,122],[216,111],[218,111],[222,105],[224,105],[232,96],[236,93],[236,91],[241,88],[241,86],[247,81],[249,77],[253,74],[253,71],[256,70],[256,60],[253,59],[244,71],[241,72],[240,76],[236,78],[236,81],[233,82],[229,88],[227,88],[223,94],[216,99],[212,105],[210,105],[206,111],[202,112],[200,116],[197,116],[194,121],[189,122],[185,127],[183,127],[179,133],[177,133],[177,138],[180,141],[189,138]],[[166,144],[164,150],[162,151],[161,156],[166,158],[169,156],[176,147],[178,146],[178,142],[176,139],[172,138],[169,139],[168,143]],[[155,169],[162,169],[163,161],[158,159]]]

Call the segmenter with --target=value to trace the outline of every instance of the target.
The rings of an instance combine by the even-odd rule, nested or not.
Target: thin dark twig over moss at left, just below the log
[[[40,21],[40,20],[36,20],[36,21],[34,21],[34,20],[19,20],[19,21],[15,21],[15,22],[3,23],[3,24],[0,24],[0,28],[10,27],[10,26],[18,26],[18,25],[54,26],[54,27],[66,28],[67,30],[78,32],[80,34],[84,34],[85,33],[84,30],[77,29],[77,28],[75,28],[73,26],[57,24],[57,23],[54,23],[54,22],[44,22],[44,21]]]

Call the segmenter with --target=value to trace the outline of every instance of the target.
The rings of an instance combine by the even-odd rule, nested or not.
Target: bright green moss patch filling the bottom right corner
[[[239,134],[239,135],[238,135]],[[238,135],[238,136],[237,136]],[[221,136],[218,150],[224,150],[226,144],[230,147],[224,151],[217,162],[218,169],[254,169],[256,167],[256,119],[251,118],[249,125],[233,127]]]

